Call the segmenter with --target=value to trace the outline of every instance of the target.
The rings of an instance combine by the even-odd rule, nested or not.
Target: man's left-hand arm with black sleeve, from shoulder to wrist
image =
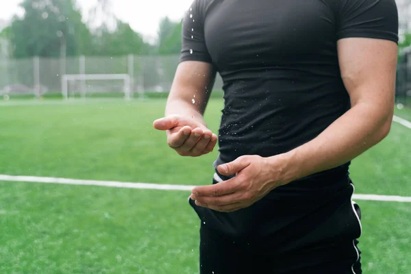
[[[216,70],[204,34],[205,0],[193,1],[183,18],[182,51],[169,100],[192,102],[204,112],[214,85]]]

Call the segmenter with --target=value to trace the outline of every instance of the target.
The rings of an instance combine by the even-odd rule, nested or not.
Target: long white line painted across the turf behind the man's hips
[[[147,183],[129,183],[115,181],[94,181],[83,179],[66,179],[54,177],[33,177],[33,176],[10,176],[0,175],[0,181],[7,182],[29,182],[42,184],[67,184],[78,186],[107,186],[112,188],[137,188],[151,190],[180,190],[191,191],[195,186],[178,186],[170,184],[147,184]],[[386,195],[353,195],[353,199],[366,201],[396,201],[403,203],[411,203],[411,197],[386,196]]]

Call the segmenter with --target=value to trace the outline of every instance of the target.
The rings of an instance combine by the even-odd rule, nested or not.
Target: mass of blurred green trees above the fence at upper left
[[[103,2],[99,5],[105,5]],[[140,34],[121,21],[114,31],[103,25],[90,32],[75,8],[75,0],[24,0],[21,7],[25,10],[23,18],[14,18],[10,29],[2,32],[10,34],[15,58],[58,57],[64,45],[67,56],[153,52]]]

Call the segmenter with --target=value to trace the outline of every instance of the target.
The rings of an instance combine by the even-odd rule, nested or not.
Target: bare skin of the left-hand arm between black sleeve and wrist
[[[214,85],[216,71],[208,62],[180,62],[175,72],[169,101],[183,100],[195,103],[203,113]]]

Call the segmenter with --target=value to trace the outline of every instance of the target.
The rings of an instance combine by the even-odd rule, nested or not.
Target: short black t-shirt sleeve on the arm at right
[[[336,27],[337,40],[362,37],[398,43],[397,4],[395,0],[338,0]]]

